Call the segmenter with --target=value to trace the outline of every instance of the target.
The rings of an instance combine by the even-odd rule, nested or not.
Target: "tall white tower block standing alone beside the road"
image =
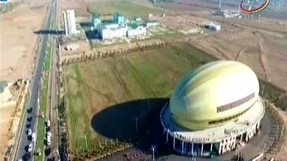
[[[74,10],[63,11],[64,26],[66,35],[77,34],[76,18]]]

